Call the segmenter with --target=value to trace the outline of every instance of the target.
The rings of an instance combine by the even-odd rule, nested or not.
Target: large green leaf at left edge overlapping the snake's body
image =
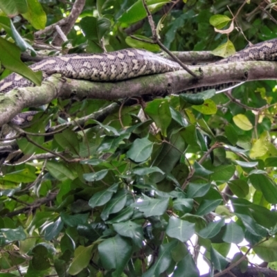
[[[37,86],[42,83],[42,72],[33,72],[20,60],[20,51],[15,44],[0,37],[0,61],[6,69],[14,71]]]

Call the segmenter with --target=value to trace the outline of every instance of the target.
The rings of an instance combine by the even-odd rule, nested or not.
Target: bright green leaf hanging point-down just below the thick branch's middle
[[[168,126],[172,120],[168,100],[155,99],[148,103],[144,111],[154,120],[157,127],[161,129],[161,134],[166,136]]]

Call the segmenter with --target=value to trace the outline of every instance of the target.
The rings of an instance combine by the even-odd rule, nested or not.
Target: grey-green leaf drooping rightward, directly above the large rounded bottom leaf
[[[131,238],[137,247],[141,248],[143,241],[143,228],[132,221],[113,224],[114,230],[123,237]]]

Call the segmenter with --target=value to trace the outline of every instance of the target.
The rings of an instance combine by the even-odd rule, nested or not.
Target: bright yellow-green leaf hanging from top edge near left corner
[[[23,13],[25,19],[37,30],[44,29],[46,25],[46,13],[38,0],[26,0],[28,3],[28,11]]]

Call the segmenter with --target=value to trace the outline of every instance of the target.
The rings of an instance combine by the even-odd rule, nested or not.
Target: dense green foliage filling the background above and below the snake
[[[243,3],[184,2],[147,2],[161,42],[172,51],[214,50],[227,42],[210,19],[232,18]],[[0,1],[2,78],[17,70],[39,84],[40,75],[19,62],[20,51],[41,54],[39,42],[50,45],[53,33],[38,39],[37,30],[68,16],[73,3]],[[255,44],[276,36],[274,8],[262,1],[242,7],[229,35],[235,49],[247,46],[246,38]],[[159,50],[129,35],[152,36],[141,1],[87,0],[69,41],[48,55]],[[202,105],[183,96],[138,100],[46,139],[17,139],[22,161],[1,168],[0,276],[196,277],[202,254],[210,276],[233,266],[247,274],[253,255],[276,269],[275,85],[243,84]],[[44,133],[49,119],[56,126],[109,104],[54,100],[26,131]],[[32,157],[46,150],[60,157]]]

